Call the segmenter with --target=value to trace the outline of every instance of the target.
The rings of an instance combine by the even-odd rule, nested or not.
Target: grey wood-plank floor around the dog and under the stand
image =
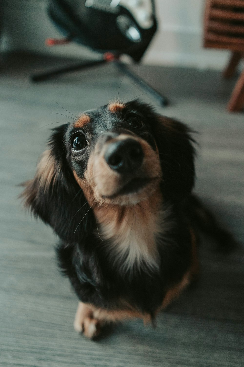
[[[0,366],[243,366],[243,247],[224,256],[205,240],[199,284],[159,315],[155,329],[129,321],[96,342],[73,330],[77,300],[57,269],[56,237],[23,211],[16,185],[33,177],[49,128],[69,120],[63,108],[76,114],[105,104],[117,97],[123,76],[103,66],[30,83],[33,70],[65,63],[15,54],[0,70]],[[137,70],[169,97],[159,112],[200,132],[196,192],[243,241],[244,113],[226,112],[234,81],[213,71]],[[143,93],[132,86],[123,79],[125,101]],[[155,104],[150,95],[140,98]]]

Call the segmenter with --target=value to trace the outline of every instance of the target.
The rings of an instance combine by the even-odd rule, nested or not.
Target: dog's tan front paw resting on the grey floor
[[[89,339],[97,337],[101,330],[101,322],[94,318],[93,312],[92,305],[79,302],[74,320],[75,330]]]

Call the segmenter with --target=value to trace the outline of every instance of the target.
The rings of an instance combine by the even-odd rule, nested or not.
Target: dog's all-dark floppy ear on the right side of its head
[[[154,136],[162,167],[162,193],[165,200],[184,200],[194,186],[195,168],[191,130],[168,117],[156,116]]]

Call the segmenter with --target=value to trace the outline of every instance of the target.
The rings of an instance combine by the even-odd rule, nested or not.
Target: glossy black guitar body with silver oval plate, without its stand
[[[157,29],[151,0],[50,0],[48,12],[71,40],[96,51],[128,54],[135,61]]]

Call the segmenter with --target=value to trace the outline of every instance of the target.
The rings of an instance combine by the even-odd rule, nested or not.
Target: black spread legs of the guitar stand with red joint
[[[33,75],[31,76],[31,80],[34,82],[44,81],[44,80],[48,80],[60,74],[91,68],[93,66],[98,66],[98,65],[101,65],[107,62],[112,62],[112,64],[121,73],[127,75],[130,79],[135,81],[135,83],[138,83],[138,86],[145,91],[145,94],[151,93],[160,105],[166,106],[168,104],[168,100],[164,96],[159,94],[159,92],[155,91],[155,89],[149,86],[149,84],[146,83],[146,81],[144,81],[142,78],[138,77],[134,72],[132,72],[132,70],[129,69],[129,67],[125,63],[120,61],[118,56],[112,54],[111,52],[106,52],[103,55],[103,58],[100,60],[79,63],[78,65],[69,66],[67,68],[61,68],[61,69],[52,70],[46,73]]]

